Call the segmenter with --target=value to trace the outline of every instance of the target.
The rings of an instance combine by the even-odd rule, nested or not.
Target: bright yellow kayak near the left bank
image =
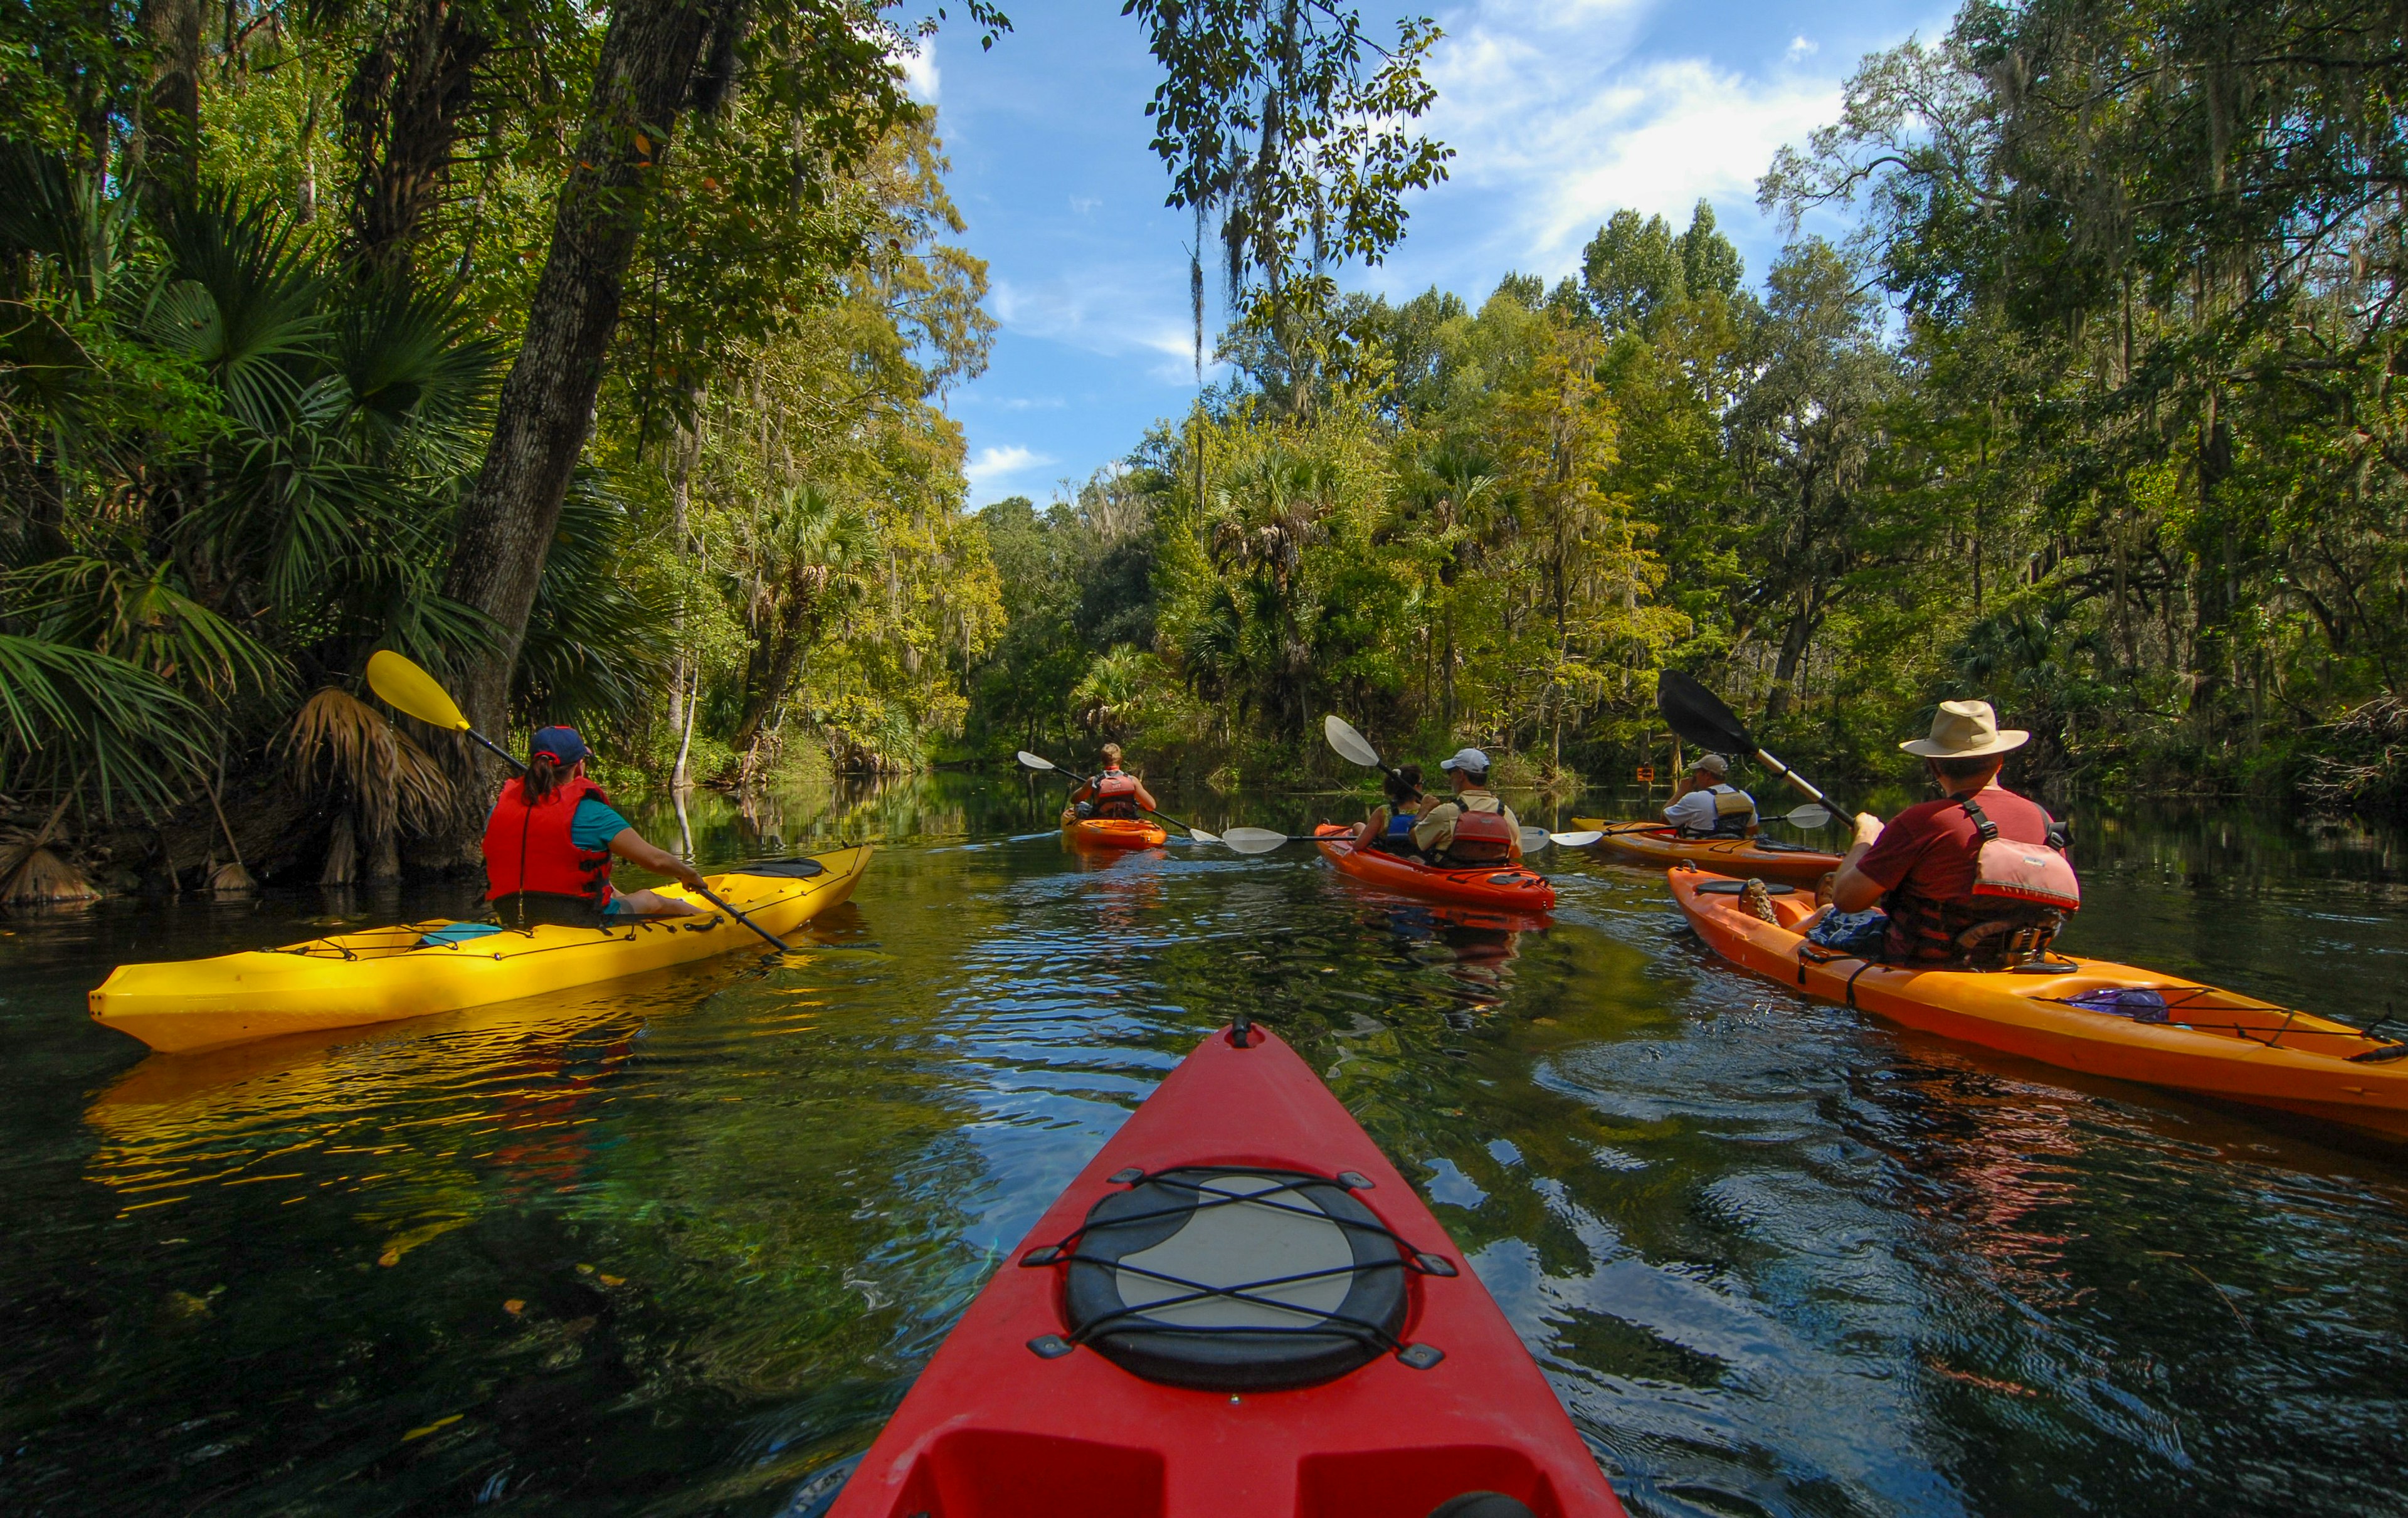
[[[783,935],[852,896],[872,853],[860,846],[814,855],[819,870],[811,875],[732,870],[708,879],[722,901]],[[778,867],[797,863],[778,860]],[[494,930],[450,920],[368,928],[217,959],[120,964],[87,1002],[104,1029],[164,1053],[188,1053],[482,1007],[766,947],[751,928],[684,887],[655,889],[703,913],[609,928]]]

